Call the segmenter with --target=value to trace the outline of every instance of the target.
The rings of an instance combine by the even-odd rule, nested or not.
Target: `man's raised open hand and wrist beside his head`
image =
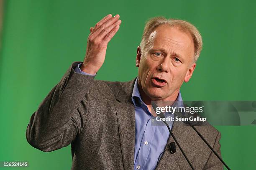
[[[121,20],[119,15],[112,17],[105,16],[94,27],[90,28],[90,35],[87,39],[87,48],[81,70],[96,74],[105,61],[108,42],[113,38],[119,29]]]

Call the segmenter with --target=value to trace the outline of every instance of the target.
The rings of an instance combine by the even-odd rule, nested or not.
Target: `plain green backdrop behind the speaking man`
[[[29,119],[74,61],[82,61],[90,27],[105,15],[122,24],[108,45],[96,79],[136,77],[136,48],[148,18],[187,20],[200,30],[203,50],[183,100],[256,100],[256,3],[225,0],[65,1],[5,0],[0,56],[0,161],[28,161],[28,168],[72,164],[71,148],[42,152],[25,133]],[[234,170],[256,169],[256,126],[219,126],[223,160]]]

